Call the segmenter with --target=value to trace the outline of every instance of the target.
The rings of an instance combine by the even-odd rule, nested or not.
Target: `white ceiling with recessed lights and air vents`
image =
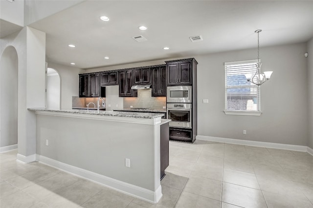
[[[256,48],[257,29],[261,47],[306,42],[313,1],[88,0],[30,26],[46,33],[49,61],[88,69]],[[132,38],[139,35],[148,41]],[[203,41],[191,42],[197,35]]]

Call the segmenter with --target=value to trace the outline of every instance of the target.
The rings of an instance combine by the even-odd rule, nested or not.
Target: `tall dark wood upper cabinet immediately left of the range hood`
[[[137,91],[132,90],[133,86],[132,72],[133,70],[122,70],[118,72],[119,97],[137,96]]]

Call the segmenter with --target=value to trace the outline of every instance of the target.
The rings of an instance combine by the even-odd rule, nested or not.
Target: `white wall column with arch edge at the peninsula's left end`
[[[27,108],[45,107],[45,33],[24,27],[19,32],[1,38],[0,45],[1,54],[7,46],[13,46],[19,60],[18,159],[34,160],[36,116]]]

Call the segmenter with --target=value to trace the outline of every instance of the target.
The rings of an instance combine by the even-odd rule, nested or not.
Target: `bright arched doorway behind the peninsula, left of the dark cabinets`
[[[60,97],[61,97],[61,80],[59,73],[52,69],[47,68],[46,79],[46,107],[47,109],[60,110]]]

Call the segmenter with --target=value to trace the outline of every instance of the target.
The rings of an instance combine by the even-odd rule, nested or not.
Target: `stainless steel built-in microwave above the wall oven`
[[[171,86],[167,87],[166,102],[168,103],[191,103],[191,86]]]

